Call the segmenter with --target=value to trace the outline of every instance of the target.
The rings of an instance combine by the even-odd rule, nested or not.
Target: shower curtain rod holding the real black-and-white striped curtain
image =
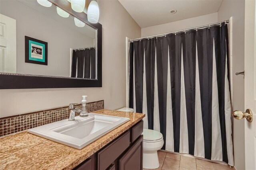
[[[221,22],[216,22],[216,23],[210,23],[210,24],[207,24],[207,25],[202,25],[202,26],[199,26],[199,27],[193,27],[193,28],[188,28],[188,29],[182,29],[182,30],[179,30],[179,31],[173,31],[173,32],[170,32],[170,33],[181,33],[181,32],[186,32],[186,31],[190,31],[192,29],[203,29],[203,28],[207,28],[207,27],[212,27],[214,25],[221,25],[221,23],[225,22],[225,24],[228,24],[229,20],[226,20],[226,21],[221,21]],[[164,34],[158,34],[158,35],[151,35],[151,36],[148,36],[148,37],[142,37],[142,38],[136,38],[136,39],[129,39],[128,41],[138,41],[138,40],[142,40],[142,39],[149,39],[149,38],[153,38],[153,37],[161,37],[161,36],[164,36],[164,35],[167,35],[167,34],[170,34],[170,33],[164,33]]]

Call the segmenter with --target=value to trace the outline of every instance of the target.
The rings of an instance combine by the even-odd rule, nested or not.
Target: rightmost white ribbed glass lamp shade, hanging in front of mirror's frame
[[[88,6],[87,10],[87,19],[91,23],[97,23],[100,16],[100,10],[98,3],[95,0],[92,0],[92,2]]]

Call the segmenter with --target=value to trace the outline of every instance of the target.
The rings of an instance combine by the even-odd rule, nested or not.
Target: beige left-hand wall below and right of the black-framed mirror
[[[140,27],[117,1],[98,0],[102,24],[102,88],[0,90],[0,117],[81,102],[105,100],[105,108],[126,106],[125,37],[140,37]]]

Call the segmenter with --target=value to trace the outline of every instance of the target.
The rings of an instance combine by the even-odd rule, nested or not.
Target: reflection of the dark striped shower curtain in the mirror
[[[71,77],[96,78],[95,49],[73,50]]]

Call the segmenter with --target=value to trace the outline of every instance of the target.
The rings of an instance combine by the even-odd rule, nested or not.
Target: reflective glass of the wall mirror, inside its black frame
[[[0,72],[98,80],[98,29],[51,2],[0,1]]]

